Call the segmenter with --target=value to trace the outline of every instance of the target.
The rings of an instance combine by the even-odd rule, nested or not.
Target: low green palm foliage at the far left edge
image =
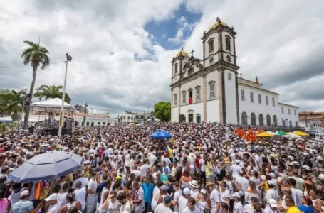
[[[4,114],[11,114],[12,121],[19,120],[19,112],[23,107],[23,98],[27,89],[5,90],[0,93],[0,110]]]

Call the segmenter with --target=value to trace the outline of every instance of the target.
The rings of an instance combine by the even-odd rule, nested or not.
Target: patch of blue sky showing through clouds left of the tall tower
[[[162,47],[166,50],[180,49],[182,47],[182,43],[172,43],[168,41],[168,38],[174,38],[179,29],[178,20],[184,16],[189,24],[197,23],[200,18],[202,18],[202,13],[191,13],[186,10],[184,4],[181,4],[179,9],[174,12],[173,18],[167,21],[151,21],[145,25],[145,31],[150,33],[150,35],[154,35],[157,40],[157,43],[162,45]],[[191,31],[184,31],[183,39],[189,38],[191,35]]]

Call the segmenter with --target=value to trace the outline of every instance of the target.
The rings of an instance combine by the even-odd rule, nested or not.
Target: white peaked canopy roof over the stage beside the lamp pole
[[[49,99],[43,102],[36,102],[31,104],[33,111],[60,111],[62,107],[62,100],[59,98]],[[64,102],[64,111],[74,112],[75,109],[68,103]]]

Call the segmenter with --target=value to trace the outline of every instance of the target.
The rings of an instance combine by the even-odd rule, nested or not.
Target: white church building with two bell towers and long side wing
[[[233,27],[217,18],[202,36],[203,59],[183,49],[172,59],[171,121],[299,126],[298,107],[238,76]]]

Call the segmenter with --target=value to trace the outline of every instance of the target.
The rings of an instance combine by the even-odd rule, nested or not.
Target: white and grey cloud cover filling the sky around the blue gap
[[[111,113],[145,110],[147,105],[152,109],[155,102],[171,97],[170,61],[179,50],[165,50],[144,26],[174,18],[184,4],[189,11],[202,13],[202,18],[188,23],[186,17],[177,17],[178,30],[169,42],[186,49],[190,44],[195,57],[202,58],[202,34],[219,16],[238,33],[236,53],[244,77],[254,80],[257,75],[291,104],[305,109],[323,106],[323,94],[318,92],[323,77],[323,1],[91,2],[0,0],[0,67],[21,65],[23,40],[37,42],[41,37],[52,62],[63,61],[66,53],[73,56],[66,89],[73,104],[88,102]],[[64,63],[39,70],[36,87],[63,84],[64,71]],[[0,82],[1,88],[28,88],[31,67],[2,69]],[[318,90],[298,96],[312,87]]]

